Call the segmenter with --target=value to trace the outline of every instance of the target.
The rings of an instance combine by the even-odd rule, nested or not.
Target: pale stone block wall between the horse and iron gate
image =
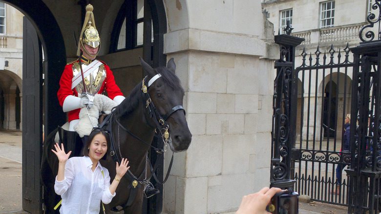
[[[193,137],[175,154],[163,212],[234,212],[243,195],[270,184],[273,26],[259,1],[164,2],[165,53],[186,91]]]

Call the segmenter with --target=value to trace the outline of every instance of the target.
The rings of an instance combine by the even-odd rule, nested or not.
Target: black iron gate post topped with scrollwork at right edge
[[[374,18],[374,14],[368,16],[370,24],[360,30],[363,42],[351,48],[355,67],[350,129],[356,131],[350,132],[351,168],[346,170],[349,176],[348,213],[381,211],[381,38],[378,33],[378,40],[373,41],[372,28],[375,23],[380,24],[380,19],[374,21]],[[366,28],[369,31],[364,32]]]

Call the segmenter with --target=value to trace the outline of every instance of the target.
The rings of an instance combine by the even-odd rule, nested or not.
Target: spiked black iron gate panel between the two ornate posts
[[[295,150],[300,155],[291,178],[298,193],[333,204],[347,203],[347,179],[337,172],[350,162],[349,150],[341,148],[344,120],[350,113],[352,56],[348,44],[338,51],[331,45],[324,53],[319,47],[314,54],[303,50],[296,68]]]

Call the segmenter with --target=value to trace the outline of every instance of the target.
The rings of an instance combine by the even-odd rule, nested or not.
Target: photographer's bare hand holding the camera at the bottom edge
[[[279,188],[265,187],[257,193],[245,195],[235,214],[268,214],[266,206],[270,203],[271,198],[281,191]]]

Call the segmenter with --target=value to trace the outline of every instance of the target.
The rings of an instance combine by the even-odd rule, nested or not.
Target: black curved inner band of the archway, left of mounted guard
[[[65,115],[58,102],[55,102],[56,99],[49,100],[51,97],[56,97],[59,87],[57,83],[60,77],[56,75],[56,69],[62,68],[66,64],[65,46],[60,27],[42,0],[4,0],[4,2],[20,10],[32,22],[41,40],[44,50],[43,58],[47,64],[47,69],[44,71],[44,96],[47,98],[47,102],[44,103],[44,124],[45,132],[49,133],[65,121]],[[21,90],[20,86],[19,88]]]

